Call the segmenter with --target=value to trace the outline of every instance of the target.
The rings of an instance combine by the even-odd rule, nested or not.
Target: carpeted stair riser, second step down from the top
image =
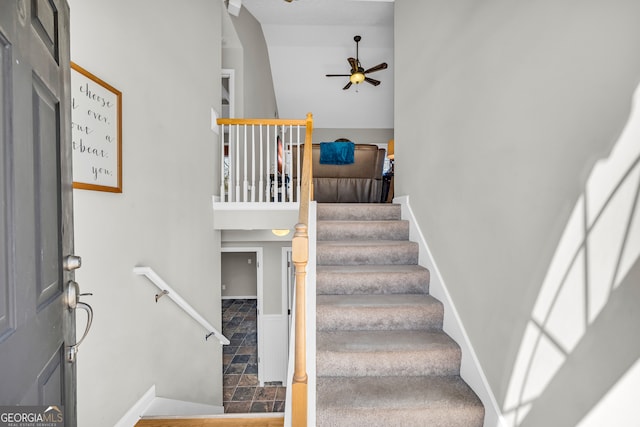
[[[320,221],[317,240],[409,240],[408,221]]]

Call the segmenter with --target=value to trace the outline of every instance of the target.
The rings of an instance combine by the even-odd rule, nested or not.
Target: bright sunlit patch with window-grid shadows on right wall
[[[640,256],[640,86],[610,156],[587,179],[556,248],[511,375],[503,413],[519,426]]]

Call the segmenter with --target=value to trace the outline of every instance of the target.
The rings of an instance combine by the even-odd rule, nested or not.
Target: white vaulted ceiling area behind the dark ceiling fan
[[[314,115],[317,128],[393,128],[393,2],[389,0],[242,0],[262,24],[282,118]],[[382,83],[352,85],[347,58],[367,69],[389,68],[370,77]]]

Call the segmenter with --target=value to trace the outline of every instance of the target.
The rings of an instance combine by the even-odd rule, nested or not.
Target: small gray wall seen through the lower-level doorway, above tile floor
[[[256,297],[258,282],[256,276],[255,252],[222,252],[223,297]],[[250,261],[250,262],[249,262]]]

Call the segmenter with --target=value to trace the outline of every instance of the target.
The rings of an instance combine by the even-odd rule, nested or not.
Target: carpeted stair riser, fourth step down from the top
[[[316,291],[331,294],[426,294],[429,272],[419,273],[335,273],[316,272]]]

